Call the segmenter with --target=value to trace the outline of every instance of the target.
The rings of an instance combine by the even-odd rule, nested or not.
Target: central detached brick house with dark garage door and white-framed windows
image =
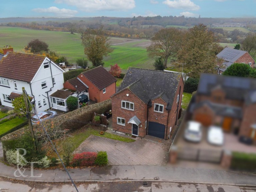
[[[181,111],[180,73],[129,67],[111,96],[113,130],[168,139]]]

